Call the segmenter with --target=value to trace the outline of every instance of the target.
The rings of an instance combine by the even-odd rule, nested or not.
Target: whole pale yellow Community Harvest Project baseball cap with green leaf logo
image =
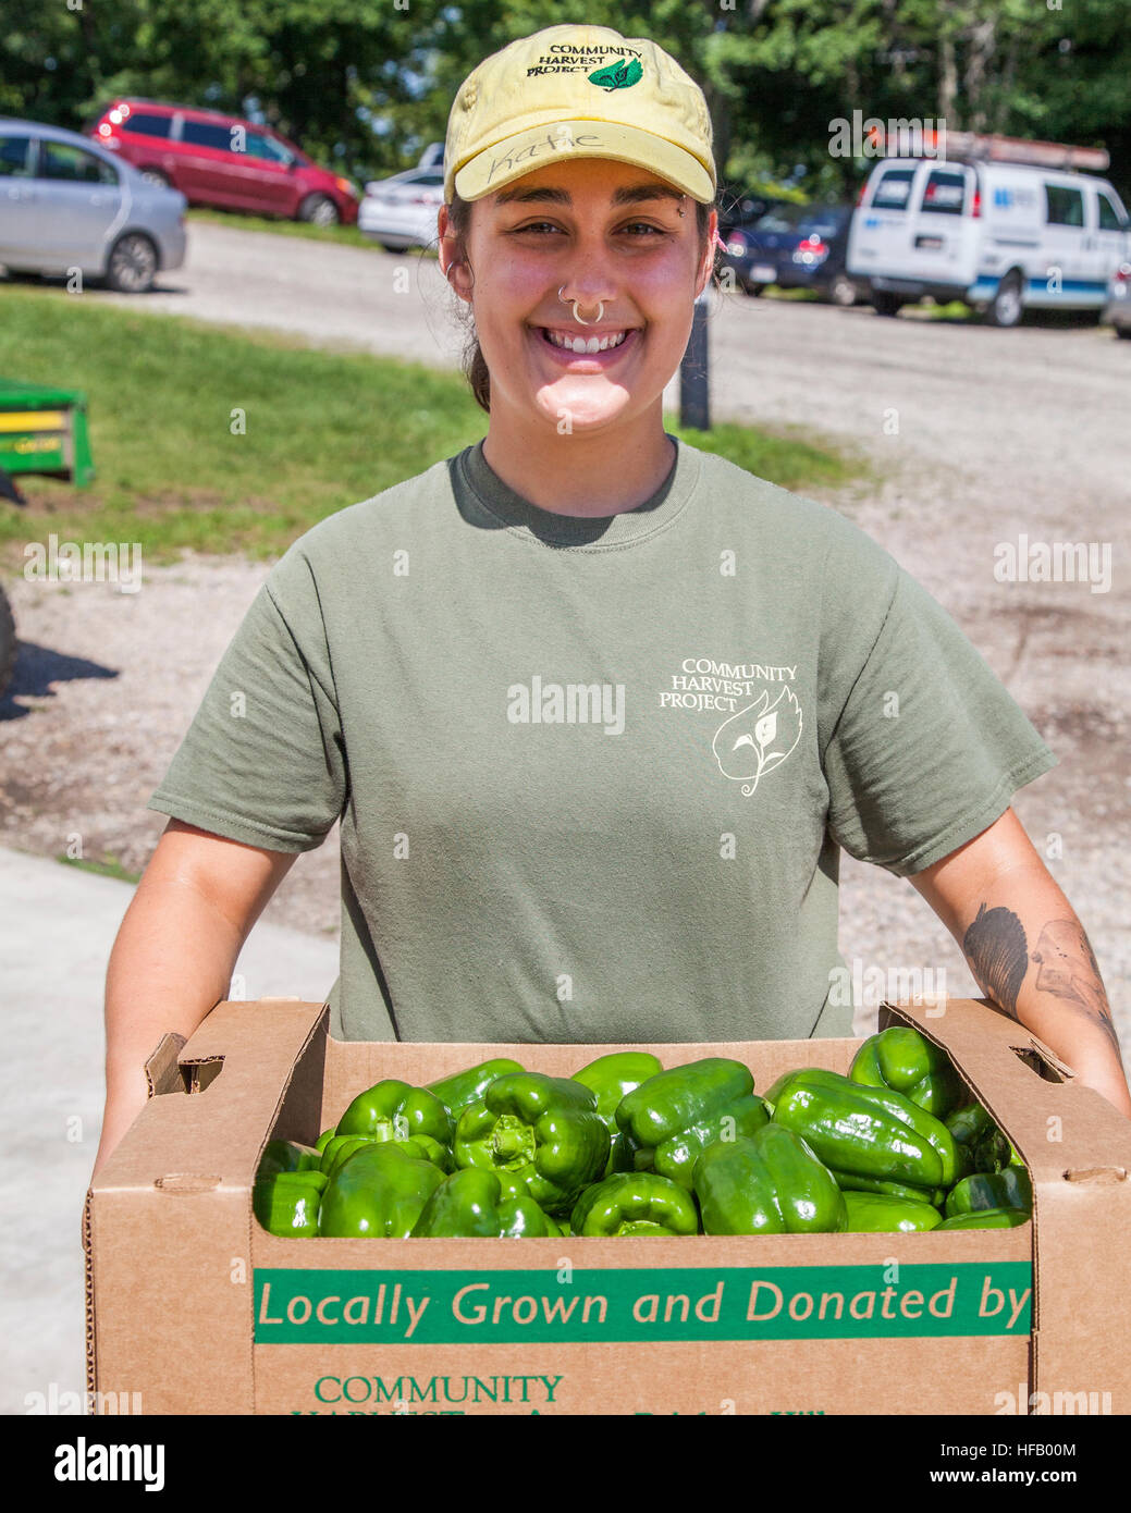
[[[448,117],[444,198],[481,200],[563,157],[634,163],[715,198],[703,89],[656,42],[607,26],[550,26],[468,74]]]

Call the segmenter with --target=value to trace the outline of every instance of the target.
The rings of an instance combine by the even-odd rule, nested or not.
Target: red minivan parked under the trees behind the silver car
[[[189,204],[351,225],[359,192],[294,142],[236,115],[153,100],[115,100],[89,133]]]

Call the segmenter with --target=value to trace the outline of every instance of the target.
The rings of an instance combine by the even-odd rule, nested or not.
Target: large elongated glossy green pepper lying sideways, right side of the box
[[[928,1191],[966,1176],[963,1147],[946,1126],[893,1088],[869,1088],[822,1067],[802,1067],[778,1077],[766,1103],[775,1123],[804,1136],[837,1176]]]

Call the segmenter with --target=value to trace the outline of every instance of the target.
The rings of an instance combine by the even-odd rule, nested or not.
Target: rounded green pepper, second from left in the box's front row
[[[407,1239],[424,1204],[444,1182],[410,1142],[366,1141],[335,1171],[322,1194],[318,1233],[335,1238]]]

